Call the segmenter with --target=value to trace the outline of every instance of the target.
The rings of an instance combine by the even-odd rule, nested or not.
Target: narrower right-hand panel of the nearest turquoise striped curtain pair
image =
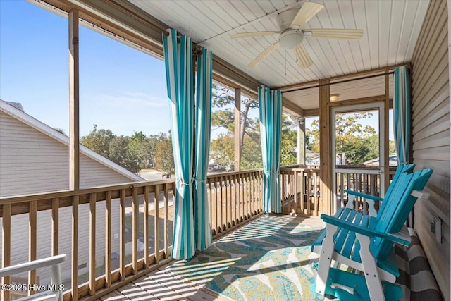
[[[206,171],[210,153],[212,82],[211,51],[202,47],[202,55],[197,56],[196,166],[194,169],[194,229],[196,230],[196,248],[201,251],[209,247],[213,240],[206,195]]]

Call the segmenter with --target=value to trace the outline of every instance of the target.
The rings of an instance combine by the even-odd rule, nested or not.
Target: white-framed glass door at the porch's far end
[[[383,102],[336,106],[330,119],[333,211],[352,200],[347,189],[383,197]],[[367,212],[364,199],[355,199],[353,206]]]

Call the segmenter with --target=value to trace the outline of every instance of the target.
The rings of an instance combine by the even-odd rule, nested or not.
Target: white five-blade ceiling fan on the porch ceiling
[[[263,35],[280,35],[278,40],[266,48],[254,61],[246,66],[246,69],[251,69],[265,58],[271,51],[276,49],[278,45],[282,49],[295,50],[297,62],[302,68],[309,68],[313,61],[307,49],[302,45],[304,37],[325,37],[327,39],[354,39],[359,40],[364,34],[363,30],[346,30],[346,29],[301,29],[309,20],[316,15],[324,6],[314,2],[306,2],[298,10],[291,8],[287,11],[278,13],[277,23],[280,28],[279,31],[260,31],[260,32],[242,32],[235,33],[230,37],[233,39],[240,37],[259,37]]]

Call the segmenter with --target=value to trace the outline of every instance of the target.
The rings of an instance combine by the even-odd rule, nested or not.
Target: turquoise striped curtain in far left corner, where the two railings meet
[[[263,211],[280,213],[280,135],[282,93],[264,85],[259,88],[261,154],[263,157]]]

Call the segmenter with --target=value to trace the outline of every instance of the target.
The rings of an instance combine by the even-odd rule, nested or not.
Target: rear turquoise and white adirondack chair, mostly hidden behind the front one
[[[391,192],[393,191],[393,185],[397,183],[397,180],[399,179],[400,175],[402,173],[411,173],[415,168],[415,164],[400,164],[396,168],[395,175],[393,176],[393,179],[390,183],[390,186],[388,186],[387,192],[385,192],[384,198],[390,197]],[[357,203],[354,203],[354,200],[357,200],[357,197],[360,197],[362,199],[365,199],[366,203],[368,204],[368,214],[370,216],[377,216],[378,211],[381,211],[383,207],[383,198],[378,197],[376,195],[367,195],[366,193],[357,192],[354,190],[345,190],[347,193],[347,204],[346,207],[350,209],[357,209]],[[382,202],[382,205],[380,209],[376,210],[376,202]]]

